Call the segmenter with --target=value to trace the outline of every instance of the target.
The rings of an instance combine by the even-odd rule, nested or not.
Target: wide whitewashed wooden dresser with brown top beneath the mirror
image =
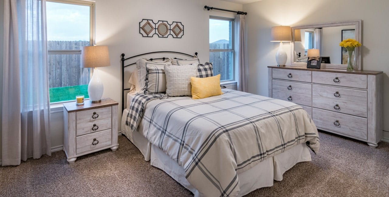
[[[269,97],[300,105],[317,129],[365,141],[382,139],[382,71],[268,66]]]

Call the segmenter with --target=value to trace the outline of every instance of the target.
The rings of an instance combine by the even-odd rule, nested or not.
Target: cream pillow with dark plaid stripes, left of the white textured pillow
[[[166,75],[164,65],[146,65],[145,94],[161,94],[166,92]]]

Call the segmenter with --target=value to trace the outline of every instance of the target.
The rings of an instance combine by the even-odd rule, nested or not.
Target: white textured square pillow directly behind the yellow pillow
[[[197,65],[165,66],[166,96],[192,96],[191,77],[196,77]]]

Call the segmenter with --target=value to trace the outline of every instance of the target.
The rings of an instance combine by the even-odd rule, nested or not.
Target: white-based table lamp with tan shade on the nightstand
[[[96,67],[110,66],[108,46],[82,47],[81,66],[84,68],[95,67],[88,84],[88,94],[92,103],[100,103],[104,87]]]

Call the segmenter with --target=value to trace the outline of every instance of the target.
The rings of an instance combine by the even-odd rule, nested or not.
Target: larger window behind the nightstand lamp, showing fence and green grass
[[[81,68],[81,49],[93,43],[94,3],[79,0],[46,2],[50,102],[88,96],[91,69]]]

